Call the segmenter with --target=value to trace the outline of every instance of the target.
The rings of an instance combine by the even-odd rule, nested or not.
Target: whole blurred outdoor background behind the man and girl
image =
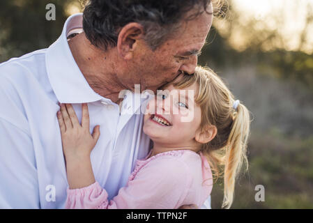
[[[56,20],[45,20],[47,3]],[[0,63],[46,48],[79,0],[1,0]],[[210,66],[252,112],[249,171],[231,208],[313,208],[313,2],[229,0],[199,63]],[[255,201],[264,185],[265,201]],[[222,204],[222,182],[212,208]]]

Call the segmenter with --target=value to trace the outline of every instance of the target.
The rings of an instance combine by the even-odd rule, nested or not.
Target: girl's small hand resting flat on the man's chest
[[[82,104],[82,125],[79,124],[72,105],[61,104],[57,117],[61,130],[63,153],[68,160],[90,159],[90,153],[100,137],[100,126],[97,125],[91,134],[89,131],[89,111],[86,103]]]

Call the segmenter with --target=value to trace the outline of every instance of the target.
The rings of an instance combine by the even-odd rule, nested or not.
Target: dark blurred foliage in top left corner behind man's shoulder
[[[56,20],[46,20],[48,3],[56,6]],[[1,0],[0,62],[46,48],[61,34],[68,6],[75,0]]]

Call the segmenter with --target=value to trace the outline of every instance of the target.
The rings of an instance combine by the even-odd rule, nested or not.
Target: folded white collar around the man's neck
[[[68,17],[61,36],[47,49],[45,63],[52,89],[61,103],[107,100],[91,89],[70,52],[67,36],[77,28],[82,28],[82,13]]]

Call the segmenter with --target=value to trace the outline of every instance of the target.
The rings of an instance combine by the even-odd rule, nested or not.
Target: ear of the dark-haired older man
[[[117,39],[117,51],[123,59],[132,59],[137,41],[142,39],[144,27],[137,22],[130,22],[123,26]]]

